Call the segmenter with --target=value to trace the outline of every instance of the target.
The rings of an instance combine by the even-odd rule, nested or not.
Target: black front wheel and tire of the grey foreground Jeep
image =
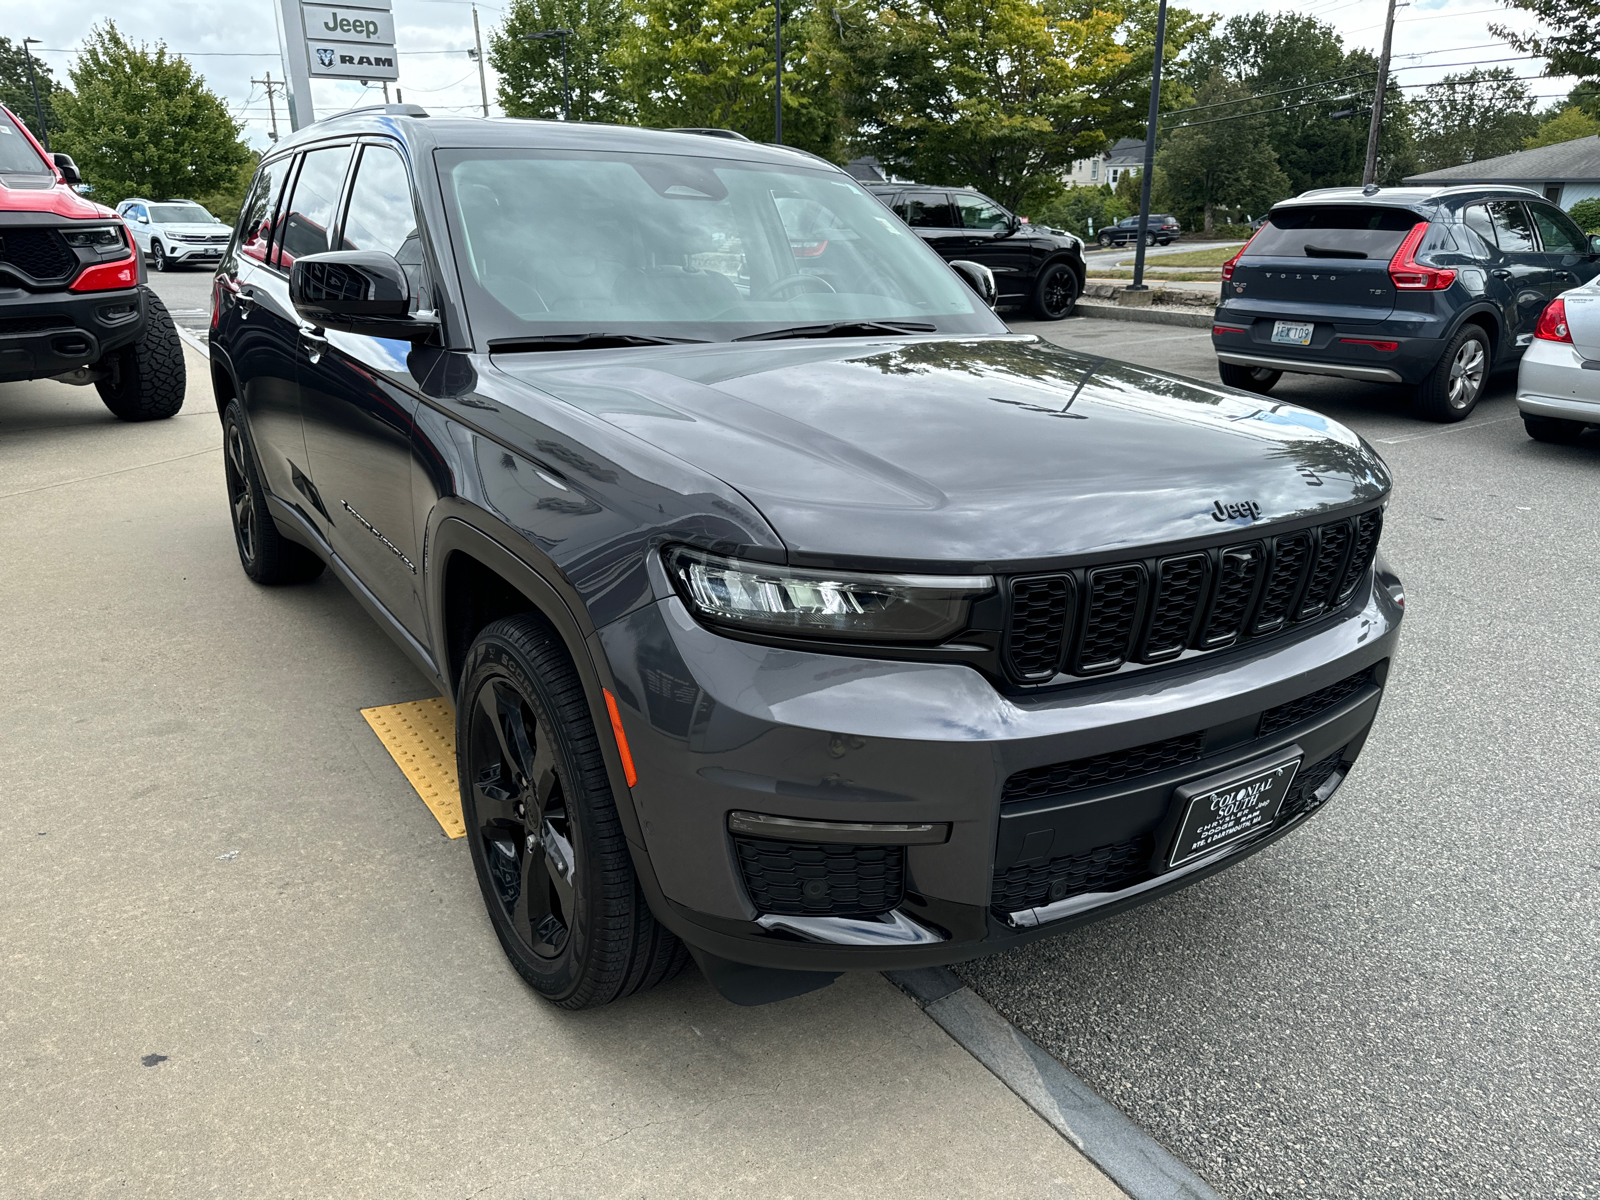
[[[456,771],[490,923],[533,990],[595,1008],[683,968],[634,874],[582,683],[538,616],[494,621],[467,651]]]

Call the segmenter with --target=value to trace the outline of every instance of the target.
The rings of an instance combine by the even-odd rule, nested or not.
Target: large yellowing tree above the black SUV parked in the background
[[[851,141],[893,170],[1046,203],[1075,158],[1142,134],[1154,0],[845,0],[816,22]],[[1210,19],[1166,14],[1178,56]],[[1186,94],[1163,83],[1168,106]]]

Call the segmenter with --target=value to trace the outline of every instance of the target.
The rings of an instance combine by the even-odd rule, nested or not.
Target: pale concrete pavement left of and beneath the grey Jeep
[[[238,570],[219,426],[0,386],[0,1192],[1115,1197],[907,997],[539,1002],[358,709],[427,685]]]

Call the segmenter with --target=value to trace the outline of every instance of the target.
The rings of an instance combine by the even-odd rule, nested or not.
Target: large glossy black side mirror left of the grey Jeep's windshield
[[[438,322],[411,314],[411,282],[394,254],[333,250],[294,259],[290,302],[323,330],[422,341]]]

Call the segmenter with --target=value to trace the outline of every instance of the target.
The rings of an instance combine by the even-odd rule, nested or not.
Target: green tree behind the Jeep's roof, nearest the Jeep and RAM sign
[[[506,21],[490,32],[488,58],[499,72],[507,117],[562,115],[562,40],[523,42],[523,34],[571,29],[566,70],[574,122],[627,122],[634,104],[613,51],[632,26],[627,0],[512,0]]]

